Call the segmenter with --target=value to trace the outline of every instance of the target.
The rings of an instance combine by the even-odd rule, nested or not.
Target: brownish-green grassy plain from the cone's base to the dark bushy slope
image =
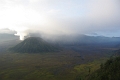
[[[5,53],[0,54],[0,80],[80,80],[97,70],[105,60],[88,62],[73,51]]]

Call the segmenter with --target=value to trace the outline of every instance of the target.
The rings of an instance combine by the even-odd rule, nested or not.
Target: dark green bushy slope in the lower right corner
[[[120,57],[101,64],[100,69],[91,74],[88,80],[120,80]]]

